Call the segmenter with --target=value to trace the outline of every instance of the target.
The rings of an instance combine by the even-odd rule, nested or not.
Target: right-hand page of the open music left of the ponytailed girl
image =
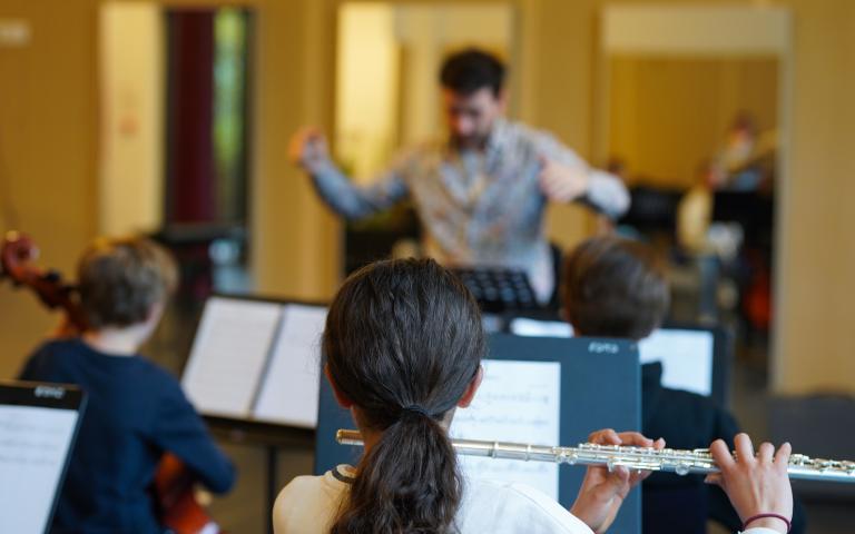
[[[314,428],[321,379],[321,335],[326,308],[285,306],[254,417]]]

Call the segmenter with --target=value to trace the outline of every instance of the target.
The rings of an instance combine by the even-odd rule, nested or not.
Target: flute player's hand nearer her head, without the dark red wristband
[[[599,445],[633,445],[637,447],[664,448],[665,439],[653,442],[637,432],[617,433],[611,428],[597,431],[588,436],[590,443]],[[596,533],[606,532],[629,491],[647,478],[650,472],[632,472],[617,466],[611,472],[607,467],[591,466],[584,474],[582,487],[570,512],[583,521]]]

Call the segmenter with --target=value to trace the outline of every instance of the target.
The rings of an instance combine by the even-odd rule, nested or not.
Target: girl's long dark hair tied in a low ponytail
[[[382,434],[333,533],[454,531],[463,482],[440,422],[475,377],[485,347],[475,300],[431,259],[380,261],[345,280],[322,349],[360,426]]]

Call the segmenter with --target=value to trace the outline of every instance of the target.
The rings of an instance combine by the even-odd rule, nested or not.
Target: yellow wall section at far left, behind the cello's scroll
[[[26,19],[32,33],[0,48],[0,230],[26,228],[67,273],[97,224],[96,14],[92,1],[0,3],[0,18]],[[51,320],[31,295],[0,287],[0,377]]]

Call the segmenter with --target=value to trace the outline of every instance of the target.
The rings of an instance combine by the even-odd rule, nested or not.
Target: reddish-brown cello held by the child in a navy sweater
[[[10,231],[0,246],[0,280],[27,287],[50,309],[65,312],[68,328],[82,334],[87,329],[77,288],[62,280],[56,270],[33,265],[39,249],[29,236]],[[154,481],[155,501],[160,523],[170,534],[223,534],[219,526],[196,501],[195,478],[190,471],[170,453],[164,453]]]

